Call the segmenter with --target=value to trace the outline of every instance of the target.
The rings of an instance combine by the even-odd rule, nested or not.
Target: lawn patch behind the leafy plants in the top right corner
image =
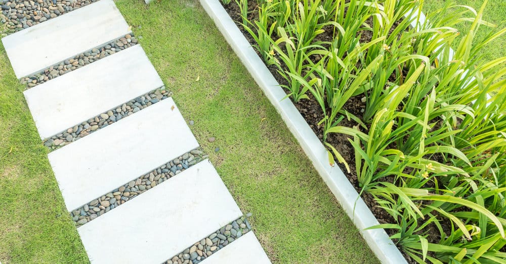
[[[480,10],[484,0],[425,0],[425,12],[432,12],[443,7],[446,2],[453,3],[454,5],[470,6],[476,11]],[[467,17],[474,16],[469,12]],[[489,0],[483,14],[483,20],[497,25],[497,27],[488,27],[481,25],[476,33],[476,39],[483,39],[490,33],[496,33],[506,26],[506,1],[504,0]],[[472,22],[466,22],[456,25],[456,28],[462,32],[461,36],[469,32]],[[455,42],[456,44],[458,41]],[[456,46],[455,46],[456,47]],[[484,61],[492,61],[500,57],[506,56],[506,34],[496,38],[494,41],[487,44],[484,48],[483,54]]]

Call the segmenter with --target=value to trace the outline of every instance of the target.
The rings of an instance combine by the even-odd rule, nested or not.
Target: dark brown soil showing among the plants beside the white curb
[[[246,39],[249,41],[249,43],[254,45],[256,43],[255,40],[249,35],[249,33],[247,31],[244,30],[244,28],[240,24],[242,22],[242,17],[240,15],[241,12],[240,12],[238,5],[234,2],[231,2],[229,5],[226,5],[226,6],[224,5],[224,8],[225,8],[225,10],[227,10],[227,12],[230,15],[230,17],[232,18],[232,20],[236,22],[236,25],[242,31],[243,35],[246,37]],[[250,4],[248,6],[248,11],[249,11],[248,19],[258,17],[258,13],[257,13],[256,9],[257,9],[256,5]],[[367,23],[372,23],[372,19],[369,19],[367,21]],[[317,38],[320,41],[331,41],[333,38],[332,30],[331,29],[325,30],[325,32],[318,35]],[[371,40],[371,38],[372,38],[372,36],[369,31],[362,31],[362,33],[360,35],[360,40],[362,42],[368,42]],[[262,58],[262,56],[260,56],[260,53],[258,50],[257,50],[257,54],[259,55],[259,57]],[[313,58],[311,58],[311,59],[313,60]],[[288,84],[287,81],[278,73],[278,68],[276,66],[269,65],[267,67],[270,70],[270,72],[272,73],[272,75],[275,77],[275,79],[279,82],[279,84],[281,84],[281,85]],[[285,92],[288,93],[288,90],[285,89]],[[314,133],[318,136],[318,138],[323,143],[323,127],[318,125],[318,123],[324,117],[323,111],[322,111],[320,105],[318,104],[318,102],[313,98],[312,94],[308,93],[307,95],[309,96],[309,99],[301,99],[298,102],[294,102],[294,105],[297,107],[297,109],[299,110],[301,115],[304,117],[304,119],[306,120],[308,125],[311,127],[311,129],[314,131]],[[362,118],[362,111],[365,110],[365,103],[362,102],[362,100],[361,100],[362,97],[363,97],[363,95],[359,95],[359,96],[350,98],[350,100],[348,100],[345,103],[343,109],[348,111],[349,113],[355,115],[359,119],[361,119]],[[339,125],[351,128],[353,126],[357,126],[358,123],[356,123],[353,120],[347,120],[345,118],[339,123]],[[344,134],[331,133],[331,134],[327,135],[326,142],[332,144],[332,146],[334,146],[339,151],[339,153],[344,157],[344,159],[346,160],[346,162],[348,163],[348,165],[350,167],[350,173],[347,172],[344,165],[339,164],[338,162],[336,162],[336,165],[340,166],[341,170],[344,172],[344,174],[350,180],[350,182],[355,187],[357,192],[360,193],[361,188],[359,187],[359,183],[358,183],[358,179],[357,179],[357,172],[356,172],[356,168],[355,168],[355,151],[354,151],[354,148],[351,145],[351,143],[348,141],[348,138],[352,138],[352,137],[348,136],[348,135],[344,135]],[[392,182],[393,179],[385,179],[385,181]],[[361,197],[364,200],[364,202],[367,204],[367,206],[369,207],[369,209],[371,210],[371,212],[376,217],[376,219],[378,220],[379,223],[387,224],[387,223],[396,223],[397,222],[395,219],[392,218],[392,216],[388,212],[386,212],[383,208],[378,206],[378,203],[375,201],[375,199],[372,195],[363,192],[361,194]],[[432,228],[429,227],[429,229],[432,229],[432,231],[430,231],[430,235],[428,238],[429,241],[437,243],[437,241],[439,241],[439,232],[436,231],[435,227],[432,227]],[[395,231],[395,230],[386,230],[386,232],[389,235],[393,235],[393,234],[397,233],[397,231]],[[399,249],[401,249],[399,245],[398,245],[398,247],[399,247]],[[416,263],[416,261],[414,261],[409,255],[405,254],[402,250],[401,250],[401,253],[406,258],[408,263]]]

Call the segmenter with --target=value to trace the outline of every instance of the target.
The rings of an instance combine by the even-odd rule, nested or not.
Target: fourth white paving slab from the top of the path
[[[77,231],[93,263],[161,263],[241,215],[204,160]]]

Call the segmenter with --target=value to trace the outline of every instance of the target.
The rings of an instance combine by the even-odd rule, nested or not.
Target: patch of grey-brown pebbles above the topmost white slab
[[[0,22],[6,27],[4,35],[29,28],[40,22],[84,7],[98,0],[36,0],[36,1],[6,1],[0,0],[2,13]]]

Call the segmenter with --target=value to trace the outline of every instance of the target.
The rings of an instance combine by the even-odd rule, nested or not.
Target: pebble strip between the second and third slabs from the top
[[[86,122],[82,122],[81,124],[64,130],[51,138],[47,138],[44,141],[44,145],[50,150],[58,149],[114,122],[117,122],[124,117],[133,115],[137,111],[147,108],[149,105],[157,103],[160,100],[170,97],[171,95],[171,92],[166,91],[165,87],[152,90],[149,93],[123,103],[122,105],[118,105],[114,109],[91,118]]]

